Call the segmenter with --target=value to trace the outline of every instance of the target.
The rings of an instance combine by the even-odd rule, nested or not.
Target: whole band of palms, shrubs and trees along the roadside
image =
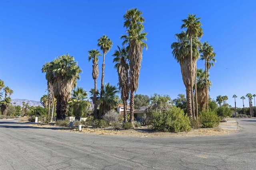
[[[232,96],[235,107],[227,104],[228,96],[219,95],[216,100],[210,98],[212,83],[209,70],[216,63],[216,53],[208,41],[200,41],[204,34],[202,23],[194,14],[188,14],[182,20],[182,30],[174,35],[176,42],[170,44],[172,55],[180,65],[185,94],[178,94],[175,99],[171,99],[168,94],[134,95],[138,89],[142,53],[147,49],[147,32],[143,25],[145,19],[138,9],[127,10],[123,18],[124,35],[120,37],[123,42],[116,46],[112,54],[118,76],[117,87],[104,84],[105,59],[110,58],[108,52],[113,43],[108,36],[103,35],[95,44],[101,51],[88,49],[92,72],[86,74],[92,74],[91,81],[94,81],[94,87],[90,91],[76,86],[82,69],[74,57],[68,53],[60,55],[41,68],[45,73],[48,92],[40,99],[43,107],[29,106],[25,102],[22,106],[15,106],[10,98],[14,91],[0,80],[0,119],[22,116],[24,120],[33,122],[37,117],[42,123],[50,123],[56,117],[55,125],[70,126],[66,117],[72,116],[75,117],[73,127],[113,127],[118,130],[147,126],[154,131],[178,133],[192,128],[217,127],[220,120],[226,117],[255,116],[255,94],[248,93],[240,98],[243,108],[236,107],[238,96],[235,94]],[[103,57],[100,89],[97,88],[99,57]],[[198,60],[204,61],[204,68],[197,68]],[[249,107],[244,107],[246,97]],[[89,100],[92,100],[92,104]],[[117,112],[118,105],[122,105],[122,113]],[[145,115],[138,117],[135,112],[141,107],[146,107]]]

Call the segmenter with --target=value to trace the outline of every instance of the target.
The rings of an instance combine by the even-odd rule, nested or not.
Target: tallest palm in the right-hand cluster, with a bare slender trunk
[[[196,18],[196,15],[193,14],[188,14],[187,19],[182,20],[183,24],[181,25],[181,28],[187,28],[186,33],[188,34],[188,36],[190,37],[190,64],[192,65],[192,56],[193,56],[193,51],[192,51],[192,39],[193,37],[199,38],[202,37],[203,32],[202,32],[202,24],[199,21],[200,18]],[[196,67],[196,63],[195,63],[195,67]],[[196,69],[195,69],[196,72]],[[192,71],[191,71],[192,73]],[[195,73],[196,74],[196,73]],[[196,78],[196,76],[193,76],[193,74],[190,74],[190,81],[194,82],[194,79]],[[195,89],[196,89],[196,83],[195,83]],[[196,94],[196,93],[195,93]],[[196,94],[197,95],[197,94]],[[191,98],[192,98],[192,112],[193,115],[195,115],[194,112],[194,95],[193,95],[193,85],[191,86]],[[198,108],[197,108],[197,96],[196,96],[196,115],[198,114]]]

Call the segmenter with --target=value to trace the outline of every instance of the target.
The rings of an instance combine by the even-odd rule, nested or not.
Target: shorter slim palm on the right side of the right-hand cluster
[[[216,63],[216,60],[214,59],[215,57],[215,53],[213,52],[213,48],[211,45],[208,44],[208,42],[204,42],[204,44],[202,45],[202,49],[200,49],[200,53],[202,53],[201,55],[201,60],[204,60],[204,66],[205,66],[205,76],[206,76],[206,80],[208,80],[208,74],[209,74],[209,69],[211,66],[214,66],[214,63]],[[208,84],[206,81],[206,89],[208,89]],[[208,108],[208,98],[209,98],[209,94],[208,94],[208,90],[206,90],[206,109],[207,111],[209,110]]]

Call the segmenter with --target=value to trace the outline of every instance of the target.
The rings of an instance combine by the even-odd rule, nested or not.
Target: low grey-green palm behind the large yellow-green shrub
[[[164,111],[168,110],[172,104],[172,100],[169,95],[154,94],[150,98],[150,107],[148,110]]]

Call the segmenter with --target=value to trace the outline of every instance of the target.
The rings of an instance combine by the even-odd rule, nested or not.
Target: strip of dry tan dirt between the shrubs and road
[[[222,123],[220,123],[222,125]],[[82,127],[82,131],[78,131],[77,127],[60,127],[55,125],[32,125],[33,127],[55,129],[61,131],[70,131],[76,133],[85,133],[85,134],[95,134],[95,135],[111,135],[111,136],[126,136],[126,137],[198,137],[198,136],[216,136],[216,135],[227,135],[230,133],[236,133],[238,131],[221,129],[220,127],[216,128],[200,128],[192,129],[189,132],[179,132],[179,133],[170,133],[170,132],[156,132],[152,129],[149,129],[147,126],[138,127],[135,129],[120,129],[115,130],[112,127],[107,128],[92,128],[92,127]]]

